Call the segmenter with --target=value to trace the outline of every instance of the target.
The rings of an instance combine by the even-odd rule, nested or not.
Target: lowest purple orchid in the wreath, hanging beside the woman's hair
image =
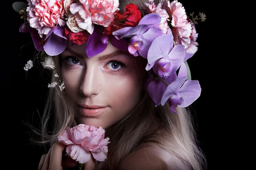
[[[177,79],[172,82],[163,93],[161,105],[167,102],[172,112],[177,106],[180,108],[187,107],[195,102],[201,94],[201,87],[198,80],[187,80],[186,65],[183,62]]]

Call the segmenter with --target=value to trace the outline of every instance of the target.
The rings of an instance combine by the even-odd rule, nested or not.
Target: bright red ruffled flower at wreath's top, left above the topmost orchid
[[[137,5],[134,5],[133,3],[125,6],[124,14],[128,15],[125,23],[130,26],[137,26],[141,20],[141,12],[138,9]]]

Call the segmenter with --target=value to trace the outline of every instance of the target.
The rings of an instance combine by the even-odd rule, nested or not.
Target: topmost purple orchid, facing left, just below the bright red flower
[[[158,26],[161,22],[159,14],[147,14],[143,17],[138,26],[125,27],[113,32],[116,39],[131,38],[128,51],[134,56],[147,58],[148,49],[151,43],[164,32]]]

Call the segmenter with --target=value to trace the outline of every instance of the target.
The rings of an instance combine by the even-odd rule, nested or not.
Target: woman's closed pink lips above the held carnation
[[[102,111],[104,111],[106,106],[98,106],[98,105],[79,105],[80,111],[84,114],[84,116],[96,116]]]

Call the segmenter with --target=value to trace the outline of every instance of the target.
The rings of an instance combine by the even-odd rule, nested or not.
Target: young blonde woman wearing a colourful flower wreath
[[[182,4],[28,2],[23,11],[14,6],[25,18],[20,31],[31,33],[52,74],[41,129],[42,142],[52,147],[39,170],[77,166],[58,136],[79,124],[103,127],[110,139],[107,159],[91,157],[84,170],[206,169],[187,109],[201,92],[186,67],[197,34]],[[32,66],[29,61],[24,69]]]

